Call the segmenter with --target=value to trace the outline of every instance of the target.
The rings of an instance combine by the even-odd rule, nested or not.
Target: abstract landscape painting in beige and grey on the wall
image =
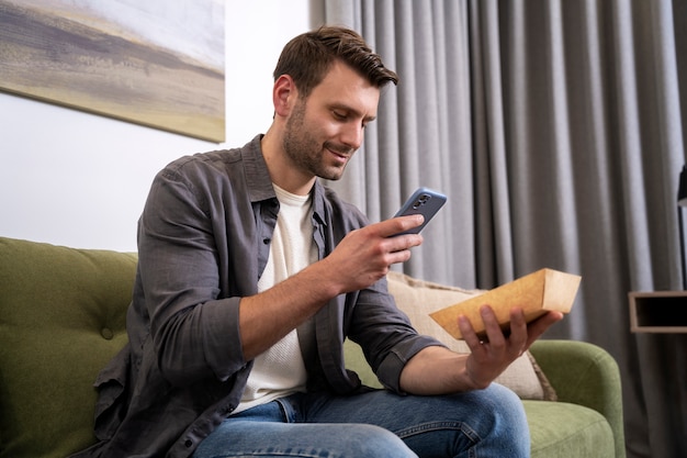
[[[224,1],[0,0],[0,90],[224,142]]]

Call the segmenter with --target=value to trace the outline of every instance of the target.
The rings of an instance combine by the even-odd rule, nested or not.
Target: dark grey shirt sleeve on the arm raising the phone
[[[138,232],[138,269],[157,364],[188,386],[226,380],[246,366],[239,297],[221,297],[216,223],[202,183],[172,169],[156,177]]]

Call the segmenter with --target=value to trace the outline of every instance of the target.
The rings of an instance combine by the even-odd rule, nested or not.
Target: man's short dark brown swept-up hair
[[[274,69],[274,80],[282,75],[293,78],[301,97],[307,97],[322,82],[335,60],[341,60],[381,88],[398,83],[398,77],[384,67],[357,32],[339,26],[322,26],[291,40],[284,46]]]

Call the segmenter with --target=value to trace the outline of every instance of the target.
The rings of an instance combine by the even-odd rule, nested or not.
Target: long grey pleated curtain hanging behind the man
[[[685,335],[629,331],[629,291],[683,289],[676,190],[687,133],[682,0],[327,0],[401,76],[345,178],[372,221],[418,186],[449,202],[407,273],[493,288],[583,276],[549,338],[608,349],[628,455],[687,456]]]

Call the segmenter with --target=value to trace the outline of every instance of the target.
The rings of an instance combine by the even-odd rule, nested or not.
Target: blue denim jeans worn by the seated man
[[[492,383],[446,396],[294,394],[228,417],[193,458],[519,458],[529,451],[522,403]]]

